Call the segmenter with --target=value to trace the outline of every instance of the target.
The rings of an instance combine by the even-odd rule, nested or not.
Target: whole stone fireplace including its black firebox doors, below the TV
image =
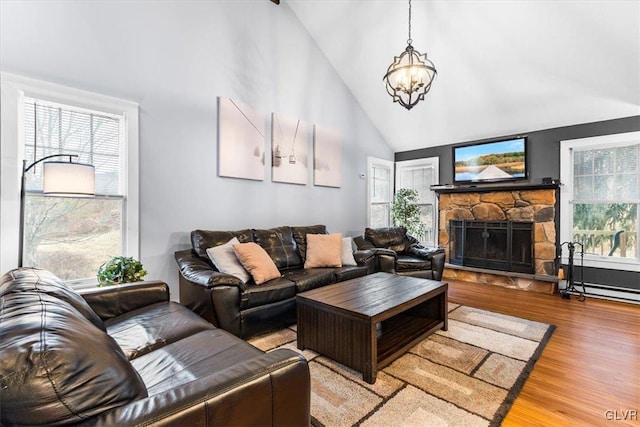
[[[438,243],[445,248],[449,263],[444,277],[458,280],[474,281],[512,287],[535,292],[552,293],[557,288],[556,276],[556,193],[555,185],[523,186],[523,187],[467,187],[436,190],[439,197],[439,236]],[[452,222],[453,221],[453,222]],[[523,224],[529,223],[530,230],[520,230]],[[457,227],[451,228],[454,224]],[[456,248],[461,235],[455,233],[461,224],[470,226],[471,238],[484,239],[476,241],[471,250],[471,265],[467,262],[461,266],[460,253],[451,251]],[[487,224],[496,230],[487,231]],[[522,267],[513,260],[494,263],[489,254],[489,261],[483,264],[477,261],[478,251],[486,250],[485,242],[494,240],[510,242],[513,240],[492,234],[500,227],[504,230],[516,225],[517,232],[531,233],[532,248],[529,252],[530,265]],[[506,235],[505,235],[506,236]],[[521,236],[522,237],[522,236]],[[469,235],[466,236],[469,238]],[[458,242],[456,242],[458,240]],[[478,246],[479,244],[483,246]],[[504,243],[506,245],[506,243]],[[520,244],[522,246],[522,244]],[[505,246],[506,247],[506,246]],[[508,250],[514,248],[508,247]],[[524,249],[518,249],[516,258],[527,255]],[[505,249],[506,250],[506,249]],[[460,250],[458,250],[459,252]],[[486,256],[486,253],[484,254]],[[507,258],[511,258],[509,254]],[[476,264],[474,264],[474,262]],[[505,262],[507,263],[505,268]],[[526,264],[525,262],[524,264]],[[458,265],[456,265],[458,264]],[[515,267],[514,267],[515,265]],[[510,267],[509,267],[510,266]],[[504,271],[498,271],[504,270]],[[527,271],[524,271],[527,270]]]

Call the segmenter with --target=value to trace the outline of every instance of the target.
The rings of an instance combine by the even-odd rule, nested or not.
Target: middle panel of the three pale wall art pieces
[[[306,185],[309,127],[300,119],[271,114],[271,180]]]

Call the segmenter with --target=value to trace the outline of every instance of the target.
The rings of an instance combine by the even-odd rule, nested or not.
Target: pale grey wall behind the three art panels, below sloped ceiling
[[[324,223],[355,235],[366,158],[393,159],[286,4],[3,0],[0,70],[140,104],[140,257],[174,299],[173,253],[192,229]],[[306,186],[272,183],[268,168],[262,182],[218,177],[218,96],[339,130],[342,188],[311,174]]]

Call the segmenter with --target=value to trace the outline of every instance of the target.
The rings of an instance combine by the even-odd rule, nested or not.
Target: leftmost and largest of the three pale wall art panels
[[[265,117],[230,98],[218,98],[218,176],[264,180]]]

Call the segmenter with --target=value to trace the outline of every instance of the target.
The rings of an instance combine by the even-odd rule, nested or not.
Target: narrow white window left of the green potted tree
[[[393,162],[369,157],[368,224],[371,228],[391,226],[393,199]]]

